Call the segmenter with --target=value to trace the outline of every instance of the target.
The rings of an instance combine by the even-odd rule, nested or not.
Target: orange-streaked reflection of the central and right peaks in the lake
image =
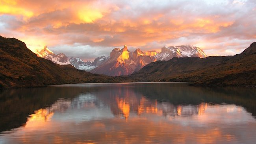
[[[128,120],[130,113],[137,115],[143,114],[157,114],[158,116],[192,116],[204,114],[207,103],[200,103],[199,105],[173,105],[169,102],[157,102],[148,98],[141,97],[139,101],[134,101],[134,96],[129,96],[128,99],[116,97],[117,103],[111,103],[111,111],[115,115],[122,114]],[[129,103],[130,102],[130,103]],[[118,109],[113,105],[117,104]],[[130,107],[132,109],[130,109]],[[116,113],[120,111],[120,113]]]

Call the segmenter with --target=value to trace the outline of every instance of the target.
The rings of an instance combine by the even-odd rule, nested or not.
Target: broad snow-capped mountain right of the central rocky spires
[[[158,61],[168,61],[173,57],[206,57],[204,51],[197,46],[164,46],[161,52],[154,56]]]

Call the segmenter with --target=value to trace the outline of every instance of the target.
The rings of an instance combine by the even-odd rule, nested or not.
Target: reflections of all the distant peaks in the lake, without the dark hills
[[[172,103],[167,102],[152,101],[144,96],[138,100],[135,95],[126,96],[126,98],[119,98],[119,96],[115,96],[113,99],[110,99],[109,101],[112,103],[104,104],[112,105],[112,113],[116,116],[122,114],[126,120],[128,120],[130,113],[136,113],[137,115],[157,114],[158,116],[165,117],[192,116],[194,114],[204,114],[204,111],[207,108],[207,103],[200,103],[199,105],[173,105]],[[30,115],[28,121],[45,122],[50,120],[54,113],[65,113],[69,108],[81,109],[86,107],[100,107],[99,101],[100,100],[96,100],[95,95],[92,94],[80,94],[73,100],[61,98],[52,105],[35,111],[34,114]]]

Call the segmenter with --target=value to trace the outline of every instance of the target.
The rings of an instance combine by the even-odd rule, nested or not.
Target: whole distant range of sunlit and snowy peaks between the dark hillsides
[[[205,58],[203,50],[196,46],[170,46],[163,47],[160,53],[155,50],[142,52],[137,48],[134,52],[130,52],[125,45],[124,48],[114,48],[110,52],[110,56],[97,57],[93,62],[84,62],[79,57],[71,57],[70,59],[63,53],[54,54],[46,46],[42,50],[36,50],[38,57],[49,59],[59,65],[71,64],[79,70],[86,70],[95,74],[105,74],[108,76],[123,76],[137,72],[145,65],[157,60],[169,60],[173,57],[200,57]]]

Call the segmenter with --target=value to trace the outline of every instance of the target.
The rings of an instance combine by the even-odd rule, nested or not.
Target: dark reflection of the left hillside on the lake
[[[81,93],[95,92],[106,87],[45,87],[0,90],[0,131],[19,127],[27,117],[60,98],[74,98]]]

